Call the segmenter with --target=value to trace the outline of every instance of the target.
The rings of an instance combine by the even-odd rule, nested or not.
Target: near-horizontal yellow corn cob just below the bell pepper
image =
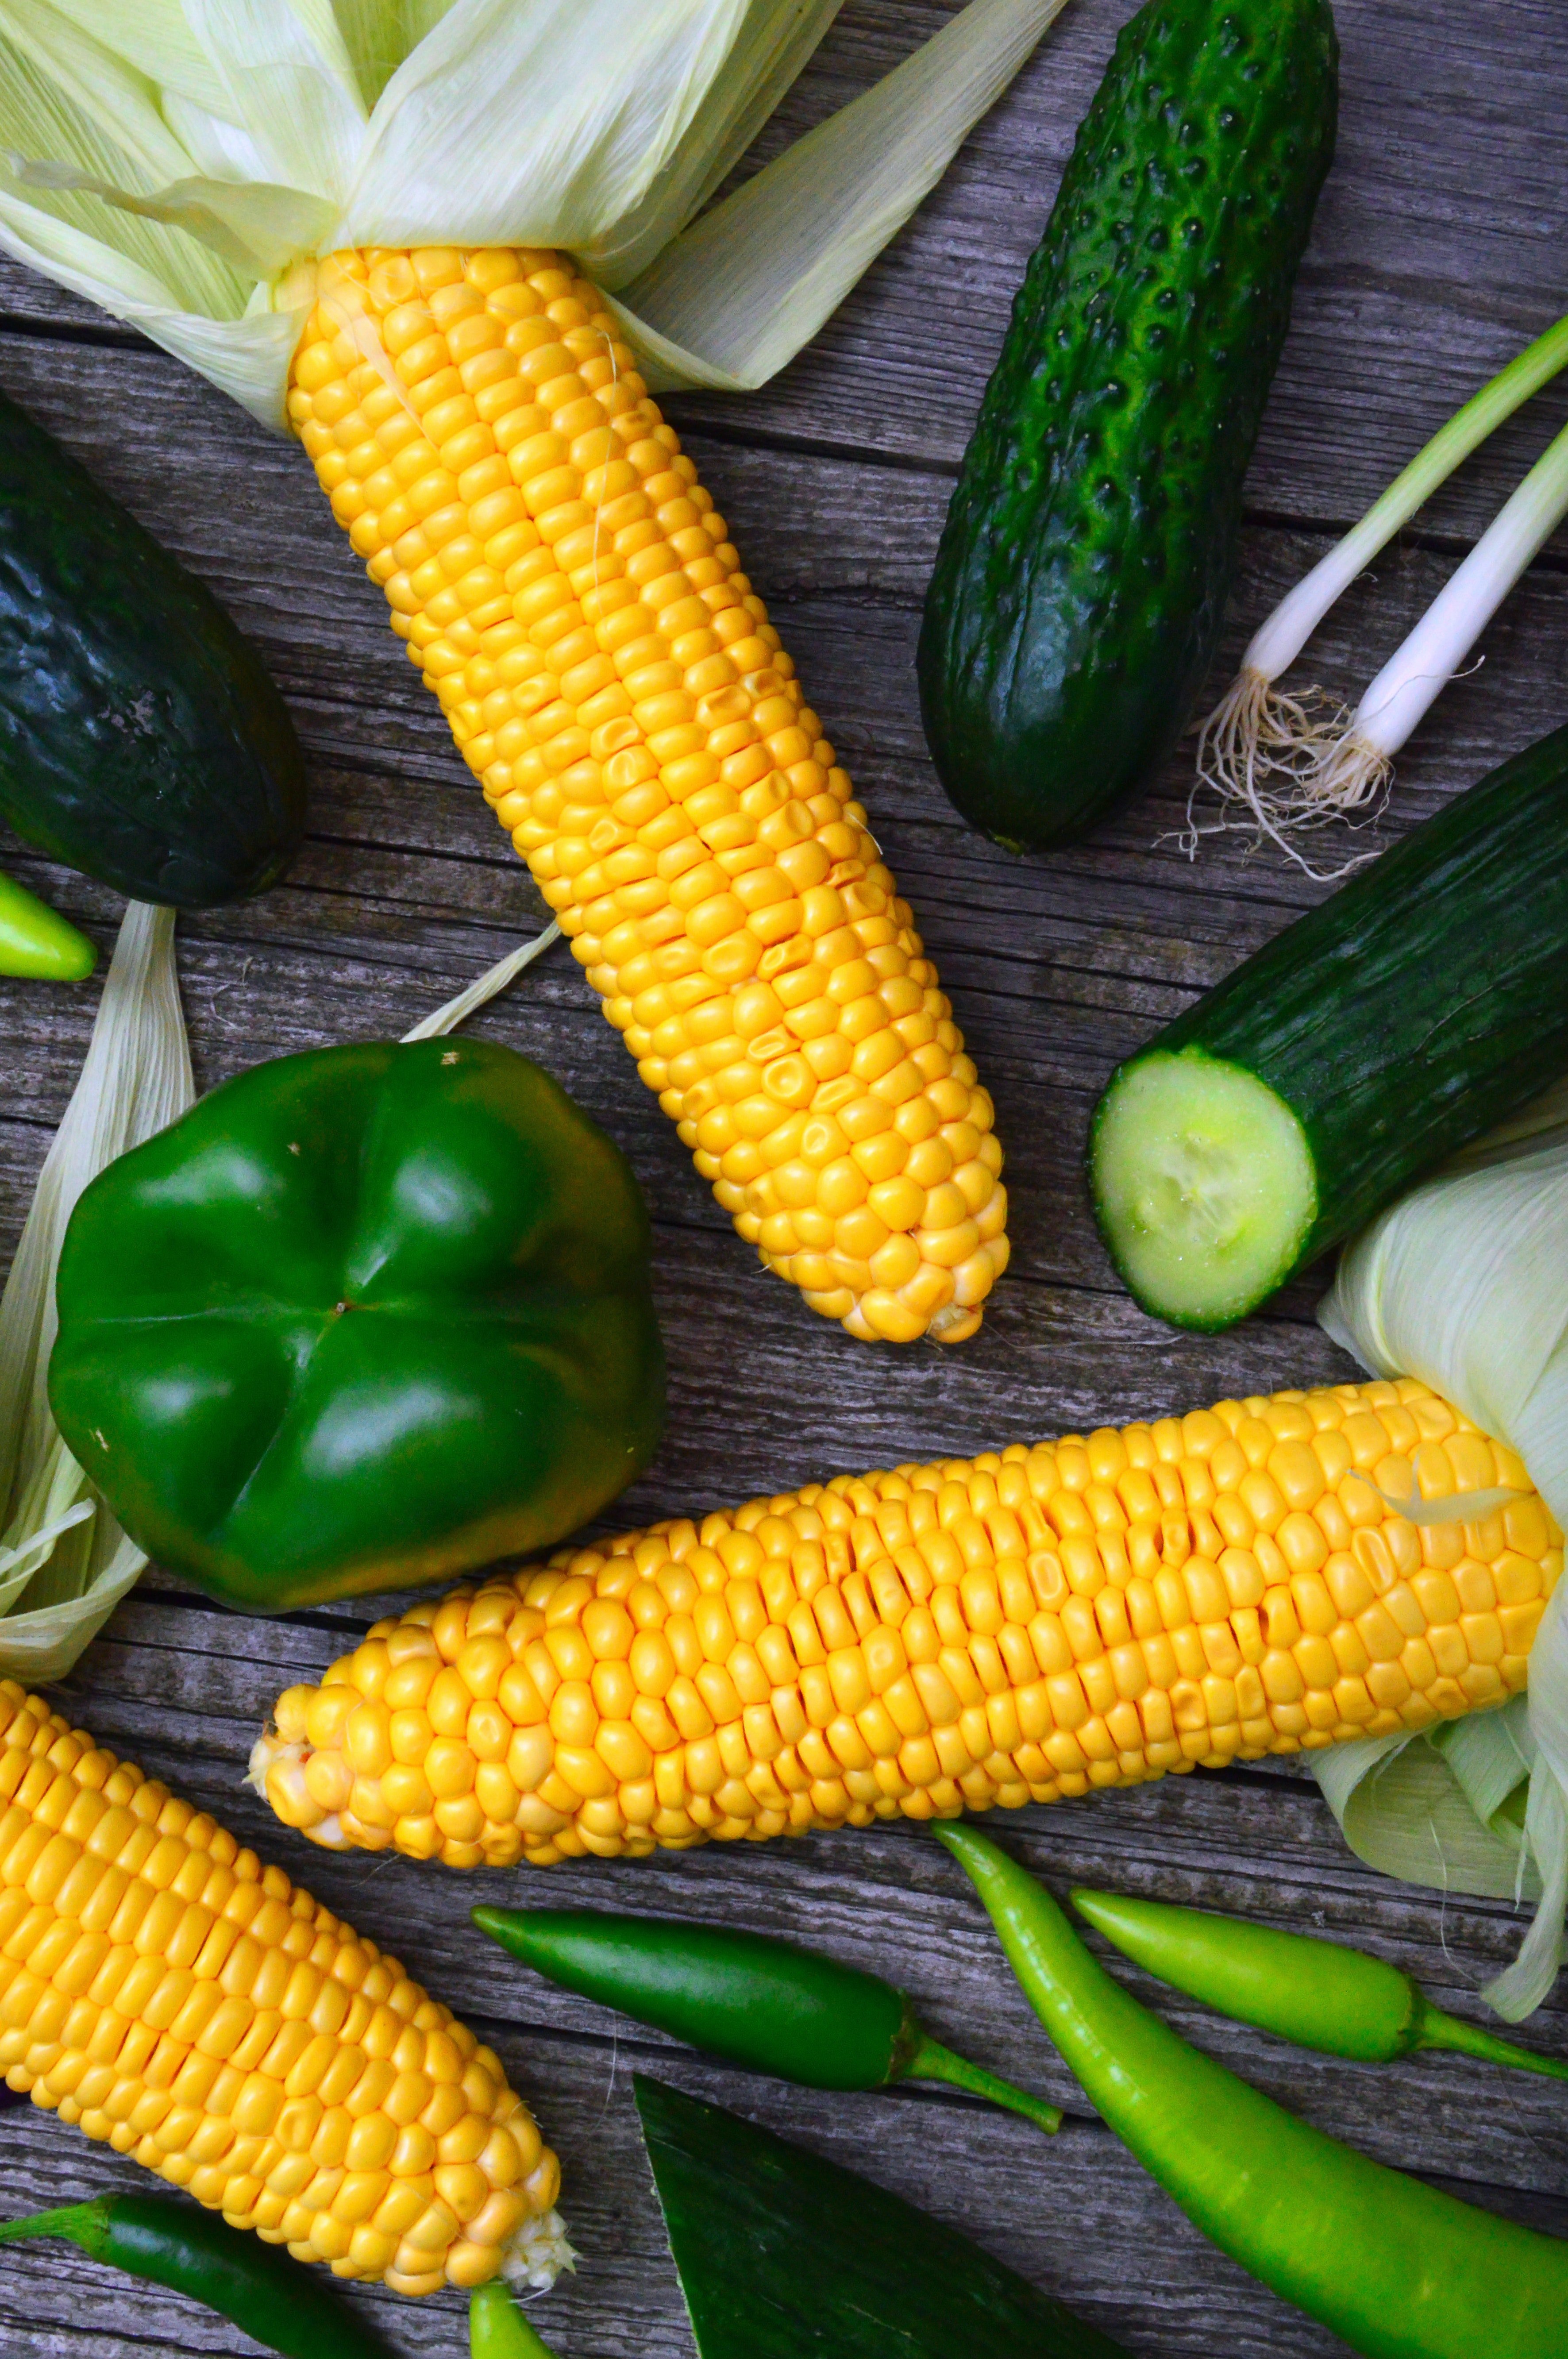
[[[252,1776],[460,1868],[1054,1802],[1502,1703],[1561,1564],[1424,1385],[1219,1401],[455,1590],[290,1687]]]

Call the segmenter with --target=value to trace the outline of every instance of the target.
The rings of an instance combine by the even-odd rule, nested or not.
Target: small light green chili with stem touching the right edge
[[[1361,1949],[1118,1892],[1073,1892],[1070,1901],[1134,1965],[1297,2048],[1356,2064],[1389,2064],[1415,2048],[1457,2048],[1490,2064],[1568,2081],[1559,2057],[1533,2055],[1445,2015],[1410,1974]]]

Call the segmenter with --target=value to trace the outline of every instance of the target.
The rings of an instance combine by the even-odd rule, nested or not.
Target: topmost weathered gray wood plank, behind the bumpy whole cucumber
[[[905,57],[957,0],[846,0],[759,139],[773,156]],[[1132,0],[1073,0],[915,222],[771,387],[684,396],[677,418],[953,469],[1073,132]],[[1294,330],[1252,472],[1278,517],[1349,524],[1441,420],[1561,309],[1568,111],[1554,0],[1507,14],[1450,0],[1339,0],[1339,156],[1302,271]],[[0,307],[33,330],[125,330],[0,259]],[[1540,422],[1504,429],[1434,521],[1474,533]],[[1561,415],[1561,401],[1554,408]]]

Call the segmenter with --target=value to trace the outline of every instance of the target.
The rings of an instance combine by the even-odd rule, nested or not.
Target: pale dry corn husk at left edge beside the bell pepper
[[[38,1175],[0,1295],[0,1673],[59,1680],[141,1566],[50,1415],[54,1267],[90,1180],[186,1111],[191,1052],[174,979],[174,911],[132,901],[83,1078]]]

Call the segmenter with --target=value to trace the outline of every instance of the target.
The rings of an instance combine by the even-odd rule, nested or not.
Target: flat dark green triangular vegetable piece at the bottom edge
[[[698,2359],[1127,2359],[839,2163],[634,2078]]]

